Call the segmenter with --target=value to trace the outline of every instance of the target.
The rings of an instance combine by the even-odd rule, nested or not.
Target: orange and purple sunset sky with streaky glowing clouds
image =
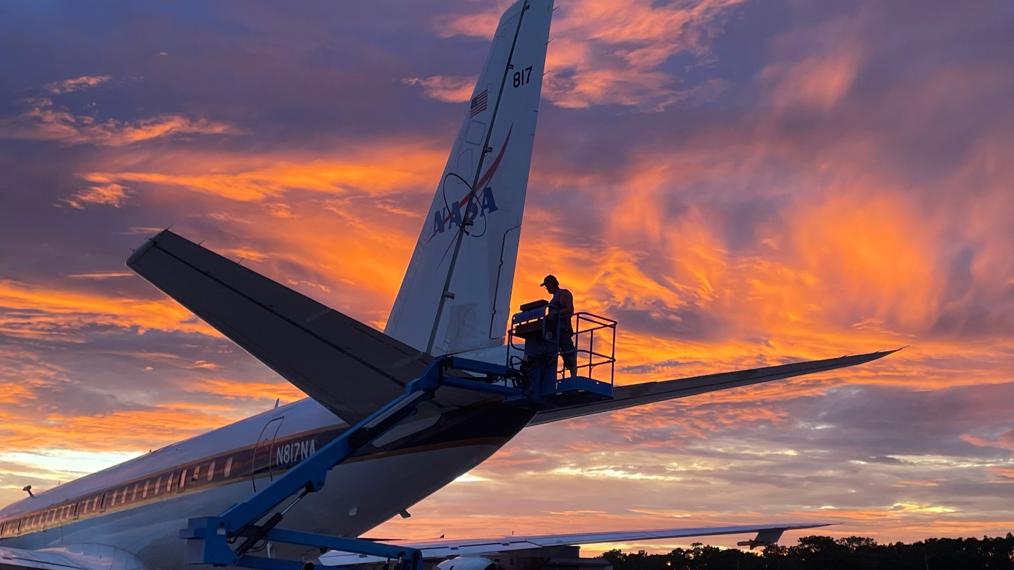
[[[0,0],[0,505],[302,397],[124,267],[161,228],[382,328],[507,4]],[[620,383],[909,348],[527,429],[376,532],[1014,530],[1014,3],[557,5],[515,306],[617,318]]]

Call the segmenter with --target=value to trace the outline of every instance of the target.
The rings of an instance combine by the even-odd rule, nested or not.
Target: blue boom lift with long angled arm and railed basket
[[[278,528],[285,513],[310,493],[323,488],[328,472],[348,459],[394,426],[410,418],[424,402],[432,400],[437,388],[457,388],[487,393],[504,398],[510,405],[539,410],[573,406],[612,398],[612,365],[615,362],[611,346],[615,340],[614,320],[578,313],[575,331],[577,356],[587,358],[579,369],[587,368],[587,376],[563,378],[557,368],[560,319],[551,307],[541,303],[522,305],[521,312],[511,320],[508,362],[491,364],[457,356],[442,356],[433,360],[422,375],[409,382],[402,396],[347,430],[315,453],[287,471],[245,501],[235,504],[218,516],[195,517],[179,531],[187,547],[184,560],[188,564],[237,566],[262,570],[311,570],[312,563],[266,558],[247,554],[262,541],[290,544],[325,550],[379,556],[396,561],[397,570],[423,570],[421,551],[402,546],[385,545],[363,539],[333,537]],[[585,324],[585,329],[581,325]],[[604,343],[610,353],[594,352],[595,333],[599,346]],[[603,339],[607,334],[607,340]],[[517,339],[523,339],[520,344]],[[581,348],[587,346],[588,348]],[[520,353],[520,354],[518,354]],[[608,369],[608,381],[591,377]],[[295,495],[284,508],[279,507]],[[274,511],[274,514],[268,516]],[[268,517],[259,524],[259,521]],[[238,544],[233,549],[232,544]]]

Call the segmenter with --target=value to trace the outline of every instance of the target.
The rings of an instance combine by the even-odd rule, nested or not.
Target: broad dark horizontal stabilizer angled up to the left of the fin
[[[169,230],[139,247],[127,267],[350,425],[400,396],[431,361]],[[480,398],[444,387],[419,412],[429,415]]]

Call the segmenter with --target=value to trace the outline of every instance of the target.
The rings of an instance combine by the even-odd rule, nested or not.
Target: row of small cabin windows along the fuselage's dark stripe
[[[138,501],[153,500],[169,493],[182,493],[189,486],[211,482],[216,475],[228,479],[233,475],[232,457],[227,457],[216,473],[219,460],[199,464],[179,472],[170,472],[146,481],[131,483],[112,491],[68,502],[59,506],[34,511],[17,518],[0,522],[0,538],[13,537],[58,526],[89,514],[103,512],[118,506],[136,504]],[[237,466],[238,467],[238,466]]]

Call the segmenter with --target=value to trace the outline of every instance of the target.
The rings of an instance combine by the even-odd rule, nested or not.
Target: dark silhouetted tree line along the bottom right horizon
[[[694,543],[668,554],[602,554],[614,570],[1014,570],[1014,536],[927,539],[879,545],[873,539],[804,537],[791,547],[763,552]]]

